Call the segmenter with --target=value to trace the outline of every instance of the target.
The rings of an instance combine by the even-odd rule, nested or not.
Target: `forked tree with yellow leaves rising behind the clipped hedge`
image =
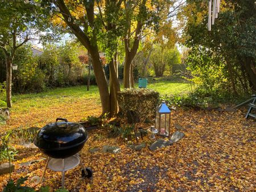
[[[133,87],[133,66],[132,61],[138,51],[139,43],[143,39],[143,32],[159,32],[159,28],[168,25],[171,7],[177,1],[125,1],[126,28],[125,45],[125,64],[123,69],[123,85],[126,88]],[[176,7],[176,6],[175,6]],[[178,7],[178,6],[177,6]],[[171,30],[171,29],[170,29]],[[144,33],[147,35],[147,33]]]

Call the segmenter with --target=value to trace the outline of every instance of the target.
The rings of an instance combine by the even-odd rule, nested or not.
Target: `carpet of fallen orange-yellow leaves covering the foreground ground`
[[[150,151],[147,147],[133,151],[117,138],[108,138],[107,130],[89,132],[80,156],[85,166],[92,168],[92,180],[81,180],[80,166],[65,173],[65,187],[80,191],[255,191],[255,128],[253,119],[245,119],[242,112],[172,111],[171,133],[174,124],[185,128],[185,136],[177,143]],[[98,137],[102,135],[102,137]],[[152,143],[149,136],[140,143]],[[159,137],[158,137],[159,138]],[[135,141],[134,141],[135,142]],[[98,151],[92,147],[115,145],[117,154]],[[18,149],[19,150],[19,149]],[[22,151],[24,158],[42,158],[38,151]],[[12,178],[41,176],[46,161],[28,167],[14,161]],[[0,176],[0,190],[8,175]],[[43,183],[61,186],[61,173],[47,169]]]

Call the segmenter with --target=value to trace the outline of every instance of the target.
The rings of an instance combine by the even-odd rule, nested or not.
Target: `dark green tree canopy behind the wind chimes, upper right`
[[[190,16],[186,14],[188,7],[191,10]],[[219,66],[221,62],[224,63],[222,72],[225,73],[233,93],[237,93],[237,89],[246,92],[250,88],[256,90],[254,2],[221,1],[220,9],[219,18],[212,26],[212,31],[208,31],[207,3],[188,1],[188,6],[184,9],[184,15],[188,18],[184,28],[185,45],[192,48],[191,56],[195,56],[197,52],[203,58],[207,54],[208,58],[217,59],[213,65]],[[207,62],[204,60],[204,65],[208,65]]]

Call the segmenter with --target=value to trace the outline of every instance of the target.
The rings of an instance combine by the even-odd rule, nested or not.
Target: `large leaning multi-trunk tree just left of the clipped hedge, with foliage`
[[[116,38],[116,35],[112,33],[117,29],[117,27],[113,25],[112,21],[115,17],[113,18],[112,14],[108,15],[107,13],[109,10],[112,10],[112,13],[115,13],[115,10],[119,10],[122,0],[92,0],[82,2],[56,0],[53,1],[53,3],[49,1],[43,1],[42,3],[43,6],[48,7],[49,12],[52,13],[52,10],[55,10],[54,12],[56,16],[59,16],[63,20],[64,24],[68,26],[70,31],[88,50],[92,58],[94,74],[100,91],[102,114],[116,114],[117,100],[115,93],[119,90],[119,82],[116,74],[117,68],[114,67],[114,53],[112,50],[110,51],[113,57],[110,57],[111,82],[109,91],[108,83],[100,60],[100,44],[102,37],[110,37],[112,35],[112,37],[110,37],[110,40],[112,41]],[[110,41],[108,41],[108,43],[110,43]]]

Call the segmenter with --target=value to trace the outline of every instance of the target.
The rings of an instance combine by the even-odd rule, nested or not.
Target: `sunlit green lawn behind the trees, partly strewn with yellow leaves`
[[[138,87],[138,84],[135,84]],[[163,79],[149,80],[148,89],[160,94],[183,94],[189,91],[189,84],[180,81]],[[53,122],[57,117],[80,122],[88,115],[98,116],[101,113],[100,95],[97,86],[63,87],[42,93],[13,95],[11,118],[0,132],[16,127],[42,127]]]

